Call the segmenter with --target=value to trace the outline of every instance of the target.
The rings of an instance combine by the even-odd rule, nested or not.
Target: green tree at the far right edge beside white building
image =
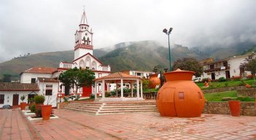
[[[249,58],[245,59],[244,63],[241,63],[239,68],[245,69],[246,71],[251,71],[252,77],[255,77],[256,74],[256,58],[253,58],[253,55],[251,55]]]

